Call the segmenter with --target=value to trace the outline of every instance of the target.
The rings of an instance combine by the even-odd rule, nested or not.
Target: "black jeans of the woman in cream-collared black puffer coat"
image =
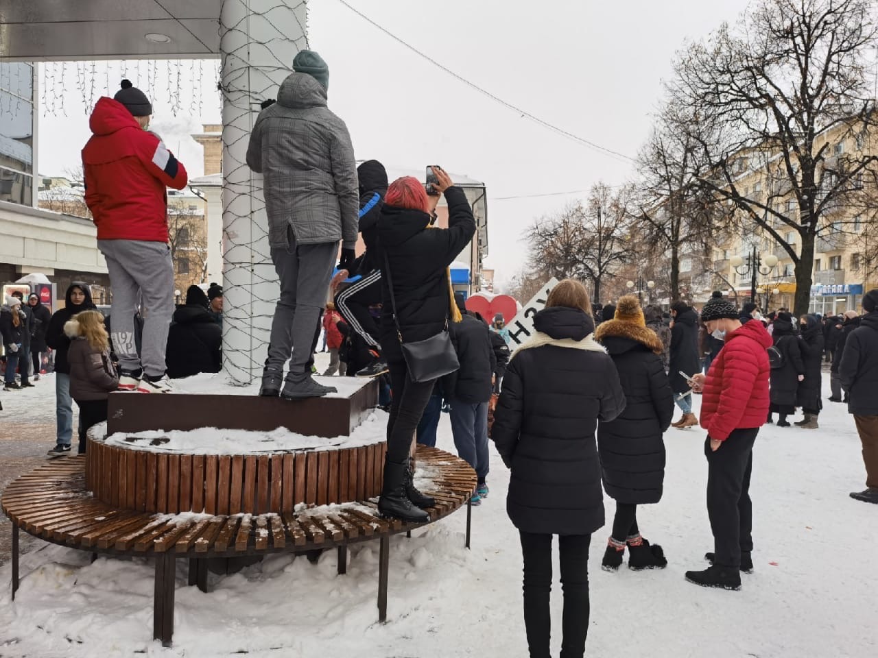
[[[547,658],[551,637],[551,534],[521,532],[524,557],[524,628],[530,658]],[[561,658],[581,658],[588,633],[588,545],[590,534],[559,535],[561,589]]]

